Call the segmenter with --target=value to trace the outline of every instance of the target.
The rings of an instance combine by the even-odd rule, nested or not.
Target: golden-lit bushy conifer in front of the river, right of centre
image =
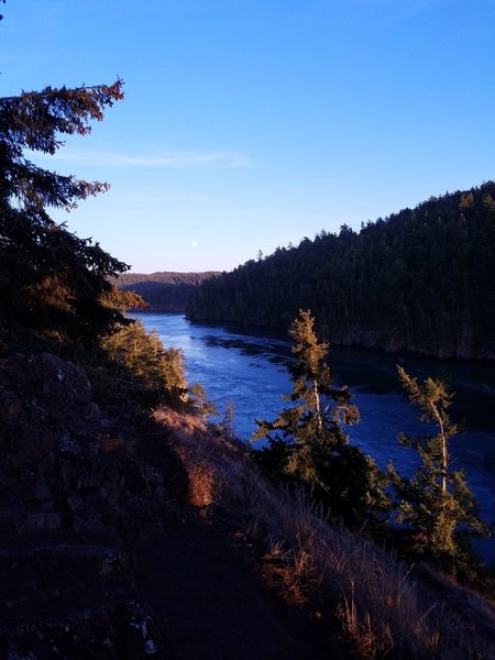
[[[385,510],[383,475],[359,447],[349,444],[342,425],[359,421],[346,386],[334,384],[327,363],[329,345],[318,340],[315,319],[300,311],[290,330],[295,361],[289,365],[294,388],[274,421],[256,420],[253,440],[268,447],[254,459],[273,473],[301,484],[333,520],[360,526]]]

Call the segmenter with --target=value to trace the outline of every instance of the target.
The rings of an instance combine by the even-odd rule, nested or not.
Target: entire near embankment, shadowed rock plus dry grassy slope
[[[267,484],[198,417],[0,364],[6,658],[490,658],[495,610]]]

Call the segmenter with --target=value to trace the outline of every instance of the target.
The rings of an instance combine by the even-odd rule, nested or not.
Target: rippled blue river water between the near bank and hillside
[[[182,314],[135,314],[146,329],[155,329],[166,346],[183,351],[190,384],[200,382],[220,411],[229,402],[234,406],[235,431],[249,440],[255,418],[271,420],[284,407],[289,394],[286,364],[292,360],[290,343],[266,332],[244,328],[193,323]],[[417,454],[397,442],[400,431],[421,436],[427,425],[418,420],[397,376],[397,363],[407,373],[448,378],[457,393],[452,417],[466,432],[451,440],[455,469],[464,469],[477,497],[482,517],[495,521],[495,367],[399,359],[394,355],[356,349],[332,349],[330,365],[336,381],[346,384],[361,422],[348,429],[351,442],[359,444],[385,468],[394,459],[399,472],[411,474]],[[213,419],[215,421],[215,419]],[[477,544],[477,543],[476,543]],[[495,542],[481,542],[479,549],[495,560]]]

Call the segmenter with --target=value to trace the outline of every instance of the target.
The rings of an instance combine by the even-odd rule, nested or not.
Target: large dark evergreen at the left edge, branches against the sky
[[[109,279],[128,266],[47,212],[70,210],[108,185],[43,169],[25,156],[26,150],[54,154],[64,134],[88,134],[91,121],[122,98],[120,79],[0,98],[0,341],[7,345],[26,336],[90,344],[123,322]]]

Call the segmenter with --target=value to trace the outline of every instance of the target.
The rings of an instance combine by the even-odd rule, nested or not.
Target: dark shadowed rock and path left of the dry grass
[[[201,515],[176,421],[99,409],[48,353],[0,364],[0,419],[2,658],[320,657]]]

